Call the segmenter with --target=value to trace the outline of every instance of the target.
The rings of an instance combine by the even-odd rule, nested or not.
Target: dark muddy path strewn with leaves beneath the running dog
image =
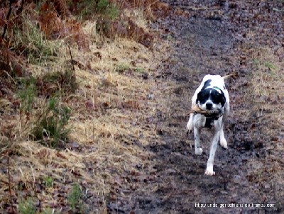
[[[226,15],[212,15],[208,11],[228,5],[222,7],[215,1],[206,2],[199,5],[171,1],[173,13],[158,21],[163,30],[161,37],[170,43],[170,57],[163,62],[160,75],[155,79],[161,85],[168,80],[176,84],[171,90],[161,89],[163,101],[155,118],[159,140],[153,139],[147,148],[155,154],[151,159],[153,169],[149,172],[155,179],[141,182],[131,196],[130,210],[135,213],[281,213],[281,193],[276,192],[283,188],[271,185],[269,179],[260,184],[248,176],[251,164],[261,164],[267,158],[271,136],[261,133],[261,124],[258,124],[259,129],[255,129],[255,125],[251,128],[256,117],[248,111],[253,108],[248,87],[251,67],[240,63],[239,47],[244,41],[226,30]],[[239,72],[239,78],[226,80],[231,98],[231,114],[224,128],[228,149],[217,147],[216,176],[204,176],[210,138],[202,132],[204,153],[195,155],[193,134],[185,133],[190,100],[205,74],[231,72]],[[198,203],[217,203],[218,208],[200,208]],[[224,203],[227,206],[277,205],[274,208],[220,208]]]

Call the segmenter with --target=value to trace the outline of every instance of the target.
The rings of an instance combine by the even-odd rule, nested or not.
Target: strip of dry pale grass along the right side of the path
[[[268,156],[264,159],[251,159],[249,162],[249,178],[256,181],[257,188],[267,191],[273,186],[275,198],[283,198],[283,62],[279,60],[279,55],[283,50],[271,50],[268,47],[258,47],[252,52],[253,74],[251,75],[250,96],[253,101],[251,117],[258,125],[258,132],[271,136],[265,142]],[[261,124],[261,125],[260,125]],[[260,129],[260,130],[259,130]],[[266,191],[262,191],[266,192]],[[266,196],[263,196],[266,197]],[[277,201],[278,205],[283,205],[283,201]]]

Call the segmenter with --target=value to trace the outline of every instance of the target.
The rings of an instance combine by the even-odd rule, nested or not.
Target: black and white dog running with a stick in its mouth
[[[199,105],[200,108],[204,110],[219,110],[219,115],[215,116],[191,113],[190,120],[188,120],[187,123],[188,131],[194,128],[195,154],[202,154],[202,148],[200,148],[201,129],[208,128],[212,131],[212,145],[210,147],[205,174],[214,175],[213,162],[218,140],[220,139],[220,145],[222,145],[222,147],[227,148],[223,125],[224,120],[229,115],[230,106],[229,94],[225,87],[224,77],[219,75],[206,75],[192,97],[192,108],[195,105]]]

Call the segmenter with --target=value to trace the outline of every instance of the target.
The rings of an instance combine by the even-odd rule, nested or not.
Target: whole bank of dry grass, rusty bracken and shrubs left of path
[[[111,186],[128,188],[123,178],[146,159],[128,145],[152,132],[138,124],[163,46],[153,48],[146,26],[166,7],[10,2],[0,9],[0,208],[107,213],[117,191]]]

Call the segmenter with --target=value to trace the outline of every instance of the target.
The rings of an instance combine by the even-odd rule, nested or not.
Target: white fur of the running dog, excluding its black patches
[[[224,105],[224,114],[221,116],[218,120],[214,120],[214,125],[212,128],[208,128],[209,130],[212,131],[212,142],[211,142],[211,147],[210,147],[210,154],[209,154],[209,159],[207,161],[207,167],[205,170],[205,174],[207,175],[214,175],[215,172],[213,171],[213,163],[214,163],[214,156],[215,152],[217,149],[217,144],[218,141],[220,140],[220,145],[222,147],[227,148],[227,142],[224,137],[224,131],[223,131],[223,126],[224,126],[224,120],[226,120],[227,116],[229,115],[230,111],[230,105],[229,105],[229,94],[226,89],[224,89],[224,79],[223,77],[219,75],[206,75],[200,86],[197,88],[195,91],[195,94],[192,97],[192,107],[195,106],[196,104],[196,99],[197,99],[197,94],[201,91],[202,87],[204,86],[204,82],[207,81],[208,79],[211,79],[212,81],[210,82],[210,86],[207,88],[213,88],[213,86],[218,87],[221,89],[225,95],[226,98],[226,103]],[[219,105],[213,105],[213,108],[220,108]],[[194,135],[195,135],[195,154],[202,154],[202,148],[200,148],[200,131],[202,128],[204,128],[206,118],[202,114],[190,114],[190,120],[188,120],[187,123],[187,130],[190,131],[192,128],[194,128]]]

